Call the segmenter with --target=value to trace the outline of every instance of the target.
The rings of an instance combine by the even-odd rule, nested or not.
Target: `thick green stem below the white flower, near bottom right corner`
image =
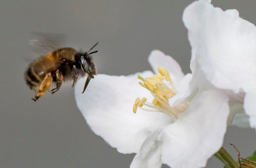
[[[230,168],[238,168],[236,161],[229,155],[229,153],[221,147],[220,150],[214,154],[215,157],[220,159],[220,161],[226,164]]]

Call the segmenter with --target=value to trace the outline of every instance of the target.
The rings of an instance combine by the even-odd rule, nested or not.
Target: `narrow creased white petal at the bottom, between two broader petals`
[[[157,138],[162,131],[161,128],[156,129],[150,134],[140,147],[139,153],[132,160],[130,168],[161,168],[161,147],[162,141]]]

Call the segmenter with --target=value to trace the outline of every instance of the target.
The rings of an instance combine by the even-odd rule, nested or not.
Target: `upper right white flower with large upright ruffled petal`
[[[189,89],[173,97],[170,104],[189,102],[197,90],[217,89],[229,97],[228,125],[245,109],[255,127],[256,27],[235,9],[222,11],[204,0],[185,9],[183,22],[192,48],[192,80]],[[245,114],[236,116],[233,124],[248,125]]]

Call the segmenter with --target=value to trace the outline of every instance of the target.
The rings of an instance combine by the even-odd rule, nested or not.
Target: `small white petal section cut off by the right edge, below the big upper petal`
[[[249,115],[250,126],[256,128],[256,88],[249,90],[244,98],[244,110]]]

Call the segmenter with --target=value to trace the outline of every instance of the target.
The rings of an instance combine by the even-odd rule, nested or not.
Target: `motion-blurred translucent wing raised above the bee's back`
[[[66,35],[54,33],[30,33],[29,44],[38,54],[46,54],[60,48],[66,42]]]

